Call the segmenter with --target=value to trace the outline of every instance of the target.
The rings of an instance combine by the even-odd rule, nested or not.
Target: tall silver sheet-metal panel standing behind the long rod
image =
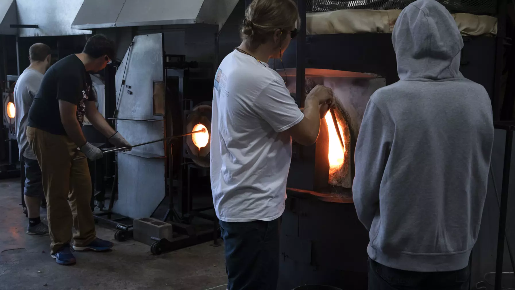
[[[116,72],[116,130],[131,144],[164,136],[163,118],[153,116],[153,82],[163,81],[162,54],[162,33],[138,35]],[[155,158],[162,156],[163,142],[118,154],[118,200],[114,212],[134,219],[152,214],[165,194],[165,158]]]

